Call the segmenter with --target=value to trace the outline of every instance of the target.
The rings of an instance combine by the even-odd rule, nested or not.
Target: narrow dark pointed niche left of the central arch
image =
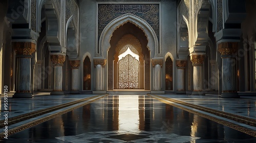
[[[83,90],[91,90],[91,60],[88,56],[83,60]]]

